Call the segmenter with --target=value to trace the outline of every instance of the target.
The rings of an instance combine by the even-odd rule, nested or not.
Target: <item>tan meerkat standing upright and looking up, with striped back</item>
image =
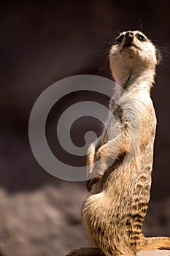
[[[91,194],[82,204],[82,221],[96,247],[76,249],[69,256],[135,256],[170,249],[170,238],[142,234],[156,129],[150,89],[158,55],[141,31],[124,31],[110,49],[109,67],[123,93],[118,102],[110,100],[112,115],[101,137],[88,148]]]

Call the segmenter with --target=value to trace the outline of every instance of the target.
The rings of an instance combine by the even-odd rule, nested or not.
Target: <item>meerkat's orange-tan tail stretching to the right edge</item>
[[[152,251],[155,249],[170,249],[169,237],[144,238],[140,251]]]

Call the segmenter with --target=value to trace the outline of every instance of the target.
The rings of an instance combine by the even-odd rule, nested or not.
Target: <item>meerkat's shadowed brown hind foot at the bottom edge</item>
[[[80,248],[74,249],[72,252],[69,252],[66,256],[105,256],[99,248]]]

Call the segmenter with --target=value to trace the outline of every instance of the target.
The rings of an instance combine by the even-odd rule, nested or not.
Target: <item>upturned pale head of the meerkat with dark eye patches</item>
[[[109,67],[117,83],[129,73],[147,71],[154,76],[158,61],[158,50],[141,31],[120,33],[109,52]]]

